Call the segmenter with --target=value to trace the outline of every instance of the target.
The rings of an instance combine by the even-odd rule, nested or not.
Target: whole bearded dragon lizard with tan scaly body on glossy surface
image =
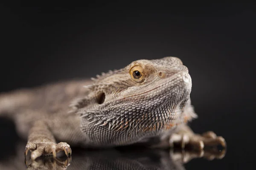
[[[225,146],[215,133],[196,135],[186,126],[196,117],[191,87],[180,59],[142,59],[92,81],[2,94],[0,114],[13,118],[18,133],[28,137],[25,153],[32,150],[32,159],[51,153],[55,157],[60,150],[71,154],[69,144],[113,147],[152,138],[160,139],[158,146],[163,141],[199,150],[204,145]],[[55,139],[63,142],[55,144]]]

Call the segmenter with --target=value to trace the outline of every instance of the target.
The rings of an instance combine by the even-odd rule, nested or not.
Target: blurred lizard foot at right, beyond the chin
[[[184,149],[185,146],[192,147],[195,150],[204,150],[204,147],[215,147],[221,145],[226,147],[225,139],[222,136],[217,136],[214,132],[208,131],[202,135],[180,131],[173,133],[170,136],[169,144],[171,147],[181,145]]]

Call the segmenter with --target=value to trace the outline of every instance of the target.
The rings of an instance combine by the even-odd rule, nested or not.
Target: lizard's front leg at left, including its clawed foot
[[[66,142],[56,144],[54,136],[43,121],[36,121],[29,130],[25,156],[29,150],[32,151],[32,160],[35,160],[39,156],[47,156],[50,154],[53,155],[53,158],[56,158],[56,153],[61,150],[64,150],[67,156],[71,155],[70,145]]]

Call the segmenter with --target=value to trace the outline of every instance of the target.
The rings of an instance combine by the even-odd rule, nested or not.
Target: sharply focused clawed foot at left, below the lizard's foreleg
[[[64,150],[65,154],[69,157],[71,156],[71,148],[70,145],[67,144],[66,142],[60,142],[58,144],[55,144],[53,142],[38,142],[38,143],[27,143],[26,144],[26,149],[25,149],[25,157],[28,154],[28,151],[31,152],[31,159],[35,160],[39,156],[47,156],[51,155],[53,158],[56,158],[56,153],[58,153],[61,150]]]

